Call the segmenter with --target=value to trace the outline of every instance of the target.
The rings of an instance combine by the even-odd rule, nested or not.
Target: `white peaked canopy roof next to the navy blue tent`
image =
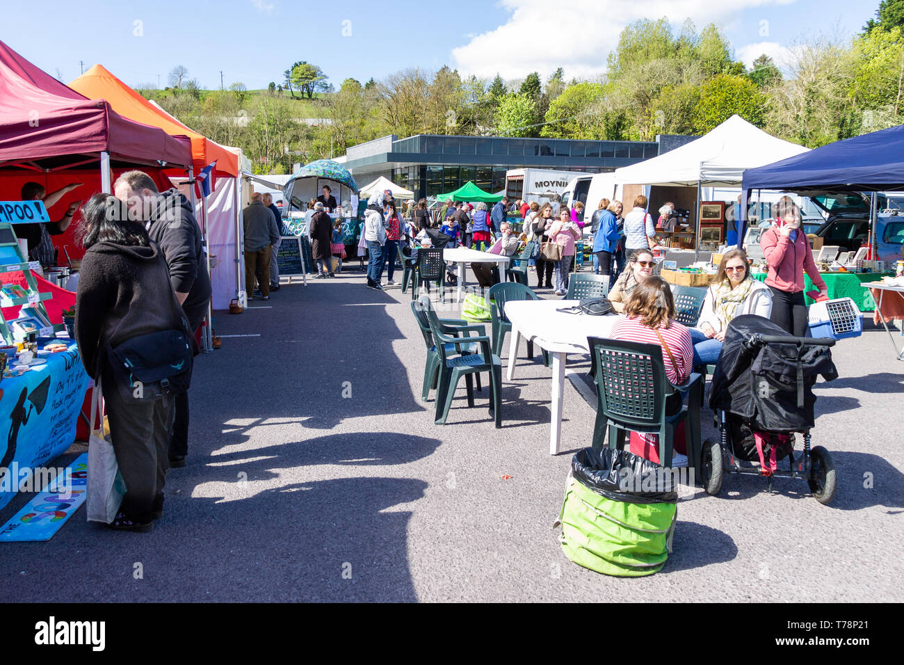
[[[664,155],[615,170],[620,185],[738,186],[745,169],[808,150],[775,138],[738,115]]]

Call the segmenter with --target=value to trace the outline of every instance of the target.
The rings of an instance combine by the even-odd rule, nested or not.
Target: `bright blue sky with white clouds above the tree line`
[[[605,71],[625,24],[662,15],[676,26],[691,17],[698,30],[714,21],[737,57],[750,62],[768,52],[780,61],[807,36],[850,38],[879,0],[457,0],[454,11],[433,0],[43,0],[38,23],[34,5],[2,5],[0,39],[66,82],[82,61],[85,69],[100,62],[132,86],[156,83],[159,74],[165,86],[181,64],[205,88],[219,87],[223,71],[226,86],[241,81],[257,89],[282,82],[299,60],[320,65],[337,87],[347,77],[380,80],[444,63],[480,76],[498,71],[506,80],[559,66],[569,78],[593,77]]]

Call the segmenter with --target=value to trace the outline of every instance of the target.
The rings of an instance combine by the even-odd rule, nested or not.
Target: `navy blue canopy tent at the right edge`
[[[740,223],[739,238],[744,237],[747,201],[755,189],[799,195],[904,189],[904,125],[845,138],[774,164],[744,171],[741,214],[745,219]]]

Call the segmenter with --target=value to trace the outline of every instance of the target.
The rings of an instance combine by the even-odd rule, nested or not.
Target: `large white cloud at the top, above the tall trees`
[[[606,57],[630,23],[667,16],[673,25],[690,18],[697,29],[739,20],[739,14],[795,0],[501,0],[509,20],[452,50],[459,71],[504,79],[532,71],[550,75],[562,67],[567,78],[592,78],[606,71]],[[758,54],[757,54],[758,55]],[[754,55],[754,58],[757,56]]]

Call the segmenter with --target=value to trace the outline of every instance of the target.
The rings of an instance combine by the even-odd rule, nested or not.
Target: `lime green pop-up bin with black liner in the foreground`
[[[555,526],[574,563],[618,577],[653,575],[672,551],[676,503],[672,477],[658,464],[585,448],[571,461]]]

